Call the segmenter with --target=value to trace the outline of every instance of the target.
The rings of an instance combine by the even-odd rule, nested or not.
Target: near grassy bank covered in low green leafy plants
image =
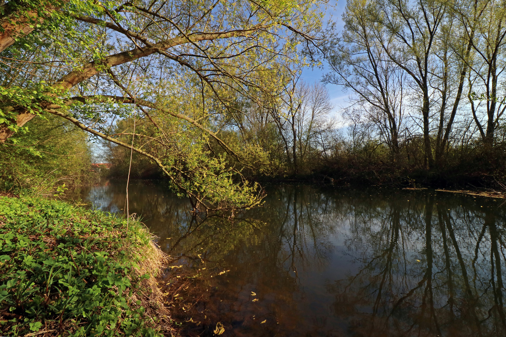
[[[155,279],[164,260],[135,219],[0,197],[0,335],[172,331]]]

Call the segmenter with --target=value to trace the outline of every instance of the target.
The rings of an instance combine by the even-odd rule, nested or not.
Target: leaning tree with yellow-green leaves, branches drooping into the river
[[[317,3],[9,2],[0,50],[16,75],[3,73],[0,141],[49,113],[149,157],[196,209],[219,200],[228,200],[224,209],[258,204],[256,187],[234,182],[236,170],[206,144],[217,142],[243,163],[255,156],[254,147],[229,146],[219,133],[239,124],[238,101],[259,103],[259,94],[275,92],[280,59],[303,64],[301,42],[318,47]],[[111,133],[125,118],[132,129]],[[182,139],[189,150],[174,147]]]

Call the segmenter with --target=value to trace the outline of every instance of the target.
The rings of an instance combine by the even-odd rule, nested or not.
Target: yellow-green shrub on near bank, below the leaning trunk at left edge
[[[35,117],[28,132],[19,130],[0,143],[0,190],[28,190],[43,195],[65,183],[90,178],[87,134],[64,119]]]

